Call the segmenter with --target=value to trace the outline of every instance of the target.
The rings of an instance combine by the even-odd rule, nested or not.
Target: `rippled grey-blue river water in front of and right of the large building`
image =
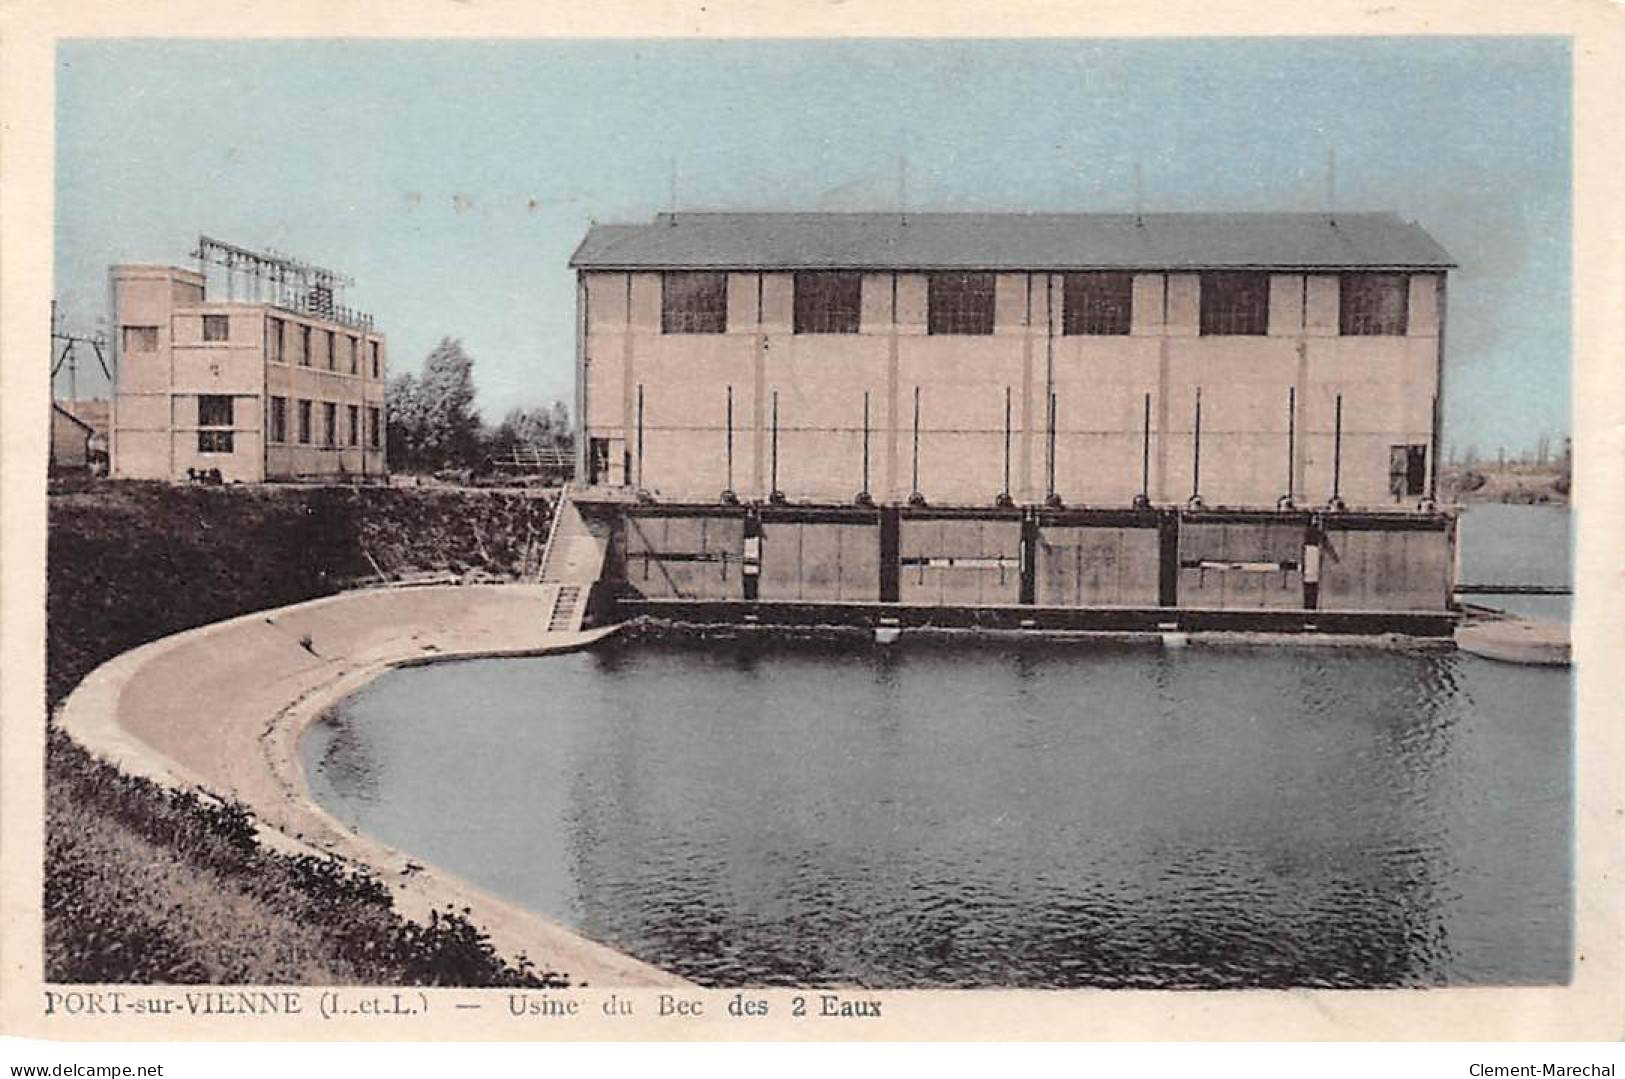
[[[1490,509],[1464,578],[1566,535]],[[390,673],[302,752],[340,819],[707,985],[1554,983],[1570,694],[1453,652],[624,642]]]

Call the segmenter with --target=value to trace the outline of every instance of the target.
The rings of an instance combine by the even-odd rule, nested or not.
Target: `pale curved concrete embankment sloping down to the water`
[[[549,634],[551,598],[540,585],[379,588],[244,614],[104,663],[68,696],[58,723],[125,772],[237,798],[271,847],[369,866],[408,918],[468,907],[500,954],[525,954],[572,985],[684,985],[344,827],[306,785],[299,734],[393,666],[569,652],[614,632]]]

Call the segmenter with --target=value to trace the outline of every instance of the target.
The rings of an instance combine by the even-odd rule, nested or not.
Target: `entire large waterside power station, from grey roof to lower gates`
[[[554,621],[1446,637],[1393,213],[666,213],[577,273]]]

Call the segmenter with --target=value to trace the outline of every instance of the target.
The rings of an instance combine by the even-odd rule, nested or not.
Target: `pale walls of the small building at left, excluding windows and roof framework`
[[[229,483],[296,476],[382,474],[384,338],[296,315],[266,304],[206,302],[203,278],[174,266],[115,266],[119,388],[114,401],[112,470],[138,479],[185,479],[187,470],[214,470]],[[205,340],[205,315],[228,320],[226,340]],[[276,359],[273,327],[284,325]],[[156,348],[125,346],[127,327],[151,327]],[[310,328],[309,364],[299,327]],[[328,349],[328,333],[336,349]],[[348,343],[356,343],[354,370]],[[377,375],[372,343],[379,344]],[[202,450],[198,398],[232,400],[231,452]],[[271,437],[270,398],[288,398],[288,437]],[[297,400],[310,400],[315,418],[309,445],[297,442]],[[336,406],[336,445],[328,447],[323,403]],[[349,406],[358,413],[358,444],[349,440]],[[379,410],[379,444],[367,445],[367,410]]]

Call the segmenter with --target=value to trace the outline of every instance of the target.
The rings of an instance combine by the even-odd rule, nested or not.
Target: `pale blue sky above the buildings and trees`
[[[55,291],[198,232],[353,275],[393,370],[440,336],[489,419],[570,400],[588,223],[707,210],[1396,210],[1461,262],[1446,440],[1568,431],[1558,37],[78,41],[58,55]],[[96,390],[81,366],[80,393]],[[58,392],[65,392],[58,385]]]

